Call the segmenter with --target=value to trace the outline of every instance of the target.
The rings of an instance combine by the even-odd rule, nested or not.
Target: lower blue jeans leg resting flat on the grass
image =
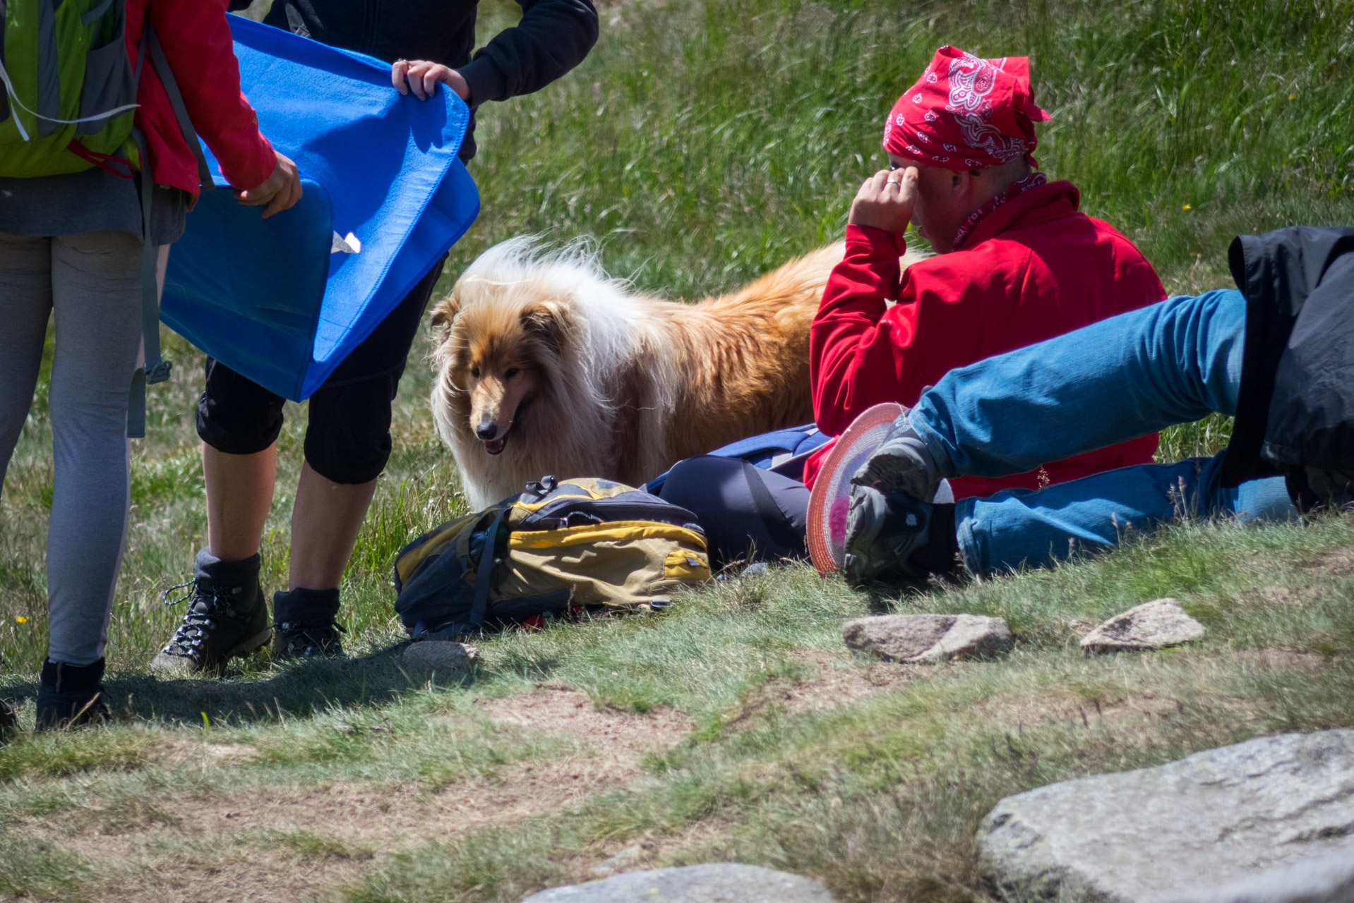
[[[1106,551],[1129,531],[1147,533],[1182,517],[1252,521],[1297,516],[1282,478],[1223,489],[1221,464],[1219,454],[1175,464],[1120,467],[1039,491],[963,498],[955,509],[955,525],[964,563],[974,574],[986,575]]]

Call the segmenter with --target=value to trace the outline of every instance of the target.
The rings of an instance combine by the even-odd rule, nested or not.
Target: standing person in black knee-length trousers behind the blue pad
[[[391,64],[401,93],[440,81],[470,104],[462,160],[475,153],[474,111],[538,91],[582,62],[597,41],[592,0],[517,0],[517,26],[471,54],[475,0],[276,0],[267,24]],[[241,4],[242,5],[242,4]],[[445,257],[310,397],[305,462],[291,510],[288,585],[272,601],[279,659],[343,654],[338,582],[376,478],[390,458],[390,410]],[[259,548],[276,482],[284,399],[207,359],[198,436],[207,486],[207,547],[194,562],[183,623],[152,661],[199,671],[268,640]]]

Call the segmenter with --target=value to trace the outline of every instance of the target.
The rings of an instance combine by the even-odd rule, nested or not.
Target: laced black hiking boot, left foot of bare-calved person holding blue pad
[[[183,586],[188,588],[188,594],[173,602],[167,598],[165,604],[187,601],[188,612],[150,661],[152,670],[223,669],[232,658],[248,655],[272,636],[268,605],[259,588],[259,555],[223,562],[202,550],[192,567],[192,581]]]

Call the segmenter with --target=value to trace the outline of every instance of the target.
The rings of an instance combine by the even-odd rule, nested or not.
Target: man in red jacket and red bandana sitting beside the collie
[[[814,413],[837,436],[880,402],[917,402],[953,367],[1029,345],[1166,296],[1152,265],[1109,223],[1078,211],[1068,181],[1049,181],[1033,152],[1029,60],[982,60],[941,47],[884,123],[890,168],[864,181],[810,334]],[[909,225],[936,256],[899,268]],[[888,301],[896,301],[890,306]],[[662,497],[693,510],[712,563],[753,547],[756,558],[806,555],[808,487],[831,445],[806,462],[803,482],[745,474],[741,462],[696,458],[668,477]],[[1156,437],[1029,472],[955,482],[956,497],[1036,489],[1152,459]],[[747,481],[758,481],[756,489]],[[760,512],[772,506],[772,524]]]

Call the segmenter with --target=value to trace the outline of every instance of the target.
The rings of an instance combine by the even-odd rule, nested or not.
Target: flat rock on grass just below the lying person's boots
[[[846,646],[892,662],[940,662],[1009,653],[1016,644],[1001,617],[876,615],[846,621]]]

